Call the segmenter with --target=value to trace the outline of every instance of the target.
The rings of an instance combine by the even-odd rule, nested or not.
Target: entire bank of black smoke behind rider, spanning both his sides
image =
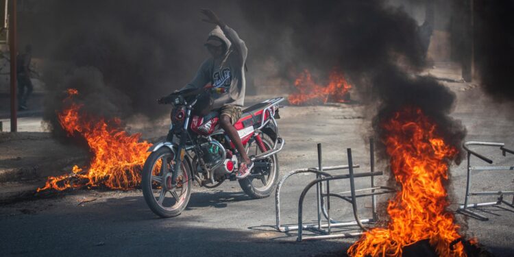
[[[408,75],[424,67],[420,27],[381,0],[49,1],[25,24],[25,34],[38,35],[34,52],[62,61],[45,72],[46,119],[55,121],[67,87],[79,89],[79,101],[95,114],[161,117],[166,108],[155,99],[186,84],[207,56],[203,42],[212,25],[201,23],[200,8],[217,12],[245,40],[247,77],[292,83],[303,69],[328,74],[335,67],[375,120],[400,103],[417,105],[450,128],[448,138],[463,138],[448,116],[454,95],[433,79]]]

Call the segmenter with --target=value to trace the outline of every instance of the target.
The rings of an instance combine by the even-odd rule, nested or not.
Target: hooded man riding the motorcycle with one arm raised
[[[234,143],[242,159],[236,178],[243,179],[250,174],[254,163],[248,157],[233,125],[241,118],[241,107],[245,100],[247,47],[234,29],[225,25],[214,12],[203,9],[201,13],[206,16],[202,21],[217,25],[209,33],[204,44],[211,57],[201,64],[193,81],[180,90],[196,89],[198,93],[208,90],[208,98],[212,99],[212,103],[204,103],[204,106],[207,109],[219,109],[219,124]],[[162,102],[164,99],[159,101]]]

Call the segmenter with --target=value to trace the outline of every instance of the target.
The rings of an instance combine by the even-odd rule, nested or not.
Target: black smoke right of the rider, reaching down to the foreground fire
[[[465,128],[450,117],[454,93],[435,79],[412,75],[425,66],[426,45],[421,27],[402,8],[375,0],[251,1],[242,9],[263,33],[254,51],[268,49],[289,61],[282,63],[282,75],[306,68],[342,69],[372,112],[376,137],[383,136],[382,121],[417,106],[438,123],[448,142],[461,148]]]

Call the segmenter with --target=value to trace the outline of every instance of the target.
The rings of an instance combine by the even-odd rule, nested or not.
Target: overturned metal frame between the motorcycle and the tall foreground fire
[[[387,186],[375,186],[374,177],[377,175],[382,175],[382,171],[374,171],[375,169],[375,157],[374,157],[374,142],[372,139],[369,140],[369,151],[370,151],[370,172],[366,173],[354,173],[354,169],[360,167],[358,164],[353,164],[352,159],[352,149],[347,149],[347,158],[348,164],[334,167],[323,167],[323,160],[321,156],[321,144],[317,145],[318,150],[318,168],[308,168],[308,169],[297,169],[295,171],[291,171],[284,175],[284,178],[280,180],[276,189],[276,221],[277,221],[277,230],[280,232],[289,232],[293,230],[298,230],[297,241],[304,240],[314,240],[314,239],[328,239],[328,238],[345,238],[352,236],[359,236],[363,234],[363,232],[354,232],[354,233],[337,233],[332,234],[332,228],[337,227],[347,227],[358,225],[360,230],[366,231],[367,228],[363,224],[367,223],[376,223],[378,221],[378,214],[376,211],[376,195],[381,195],[385,193],[393,193],[395,192],[394,188],[390,188]],[[330,175],[326,171],[337,171],[348,169],[348,174],[345,175]],[[298,225],[281,225],[280,223],[280,190],[282,189],[282,184],[290,178],[292,175],[299,173],[315,173],[316,179],[309,182],[307,186],[305,186],[304,190],[299,196],[298,202]],[[371,187],[369,188],[355,188],[355,178],[371,178]],[[330,192],[330,181],[332,180],[350,180],[350,191],[344,191],[341,193],[331,193]],[[324,184],[324,186],[323,186]],[[306,193],[310,188],[316,186],[316,196],[317,196],[317,224],[316,225],[304,225],[303,218],[303,205],[304,198]],[[323,187],[326,187],[326,190],[323,190]],[[369,192],[369,193],[366,193]],[[348,195],[350,194],[350,195]],[[354,213],[355,221],[335,221],[330,218],[330,197],[336,197],[339,199],[343,199],[348,203],[352,204],[352,210]],[[358,206],[356,199],[359,197],[371,197],[371,208],[372,208],[372,217],[367,219],[361,219],[358,214]],[[323,215],[326,222],[322,222]],[[303,236],[304,230],[310,230],[313,232],[317,232],[321,235],[318,236]]]

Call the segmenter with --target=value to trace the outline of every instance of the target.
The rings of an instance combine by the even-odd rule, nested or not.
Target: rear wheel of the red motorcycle
[[[266,149],[273,149],[273,141],[266,134],[261,134],[262,143],[264,143]],[[247,147],[247,154],[249,156],[261,154],[262,151],[259,149],[256,142],[250,143]],[[267,167],[257,167],[258,164],[267,163]],[[275,190],[275,186],[278,182],[278,156],[273,154],[265,158],[264,160],[256,160],[256,167],[244,180],[238,180],[239,185],[243,188],[243,191],[249,197],[254,199],[265,198],[271,195],[271,192]]]

